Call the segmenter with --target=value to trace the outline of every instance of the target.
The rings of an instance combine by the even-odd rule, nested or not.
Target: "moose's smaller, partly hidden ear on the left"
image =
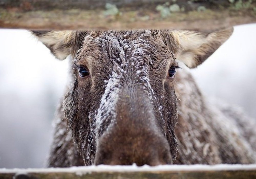
[[[31,31],[57,59],[64,60],[73,52],[76,43],[76,31]]]

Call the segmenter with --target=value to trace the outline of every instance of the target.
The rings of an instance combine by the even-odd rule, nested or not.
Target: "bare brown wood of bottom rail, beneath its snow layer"
[[[15,177],[14,177],[15,176]],[[230,179],[249,179],[256,178],[256,171],[211,171],[211,172],[92,172],[87,174],[76,173],[28,173],[28,174],[0,174],[1,179],[216,179],[216,178],[230,178]]]

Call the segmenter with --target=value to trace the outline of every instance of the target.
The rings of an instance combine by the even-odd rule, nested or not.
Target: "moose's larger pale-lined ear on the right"
[[[233,33],[233,28],[203,33],[190,30],[167,30],[163,40],[189,68],[195,68],[214,53]]]

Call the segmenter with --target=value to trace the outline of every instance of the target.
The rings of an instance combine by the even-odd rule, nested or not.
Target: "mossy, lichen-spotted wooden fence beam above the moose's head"
[[[0,0],[0,28],[212,31],[255,22],[255,0]]]

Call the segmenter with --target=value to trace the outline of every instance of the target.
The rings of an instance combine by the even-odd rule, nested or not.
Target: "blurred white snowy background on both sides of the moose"
[[[231,38],[191,70],[206,96],[241,106],[256,118],[256,24]],[[51,121],[62,97],[67,60],[56,60],[26,30],[0,29],[0,168],[43,167]]]

